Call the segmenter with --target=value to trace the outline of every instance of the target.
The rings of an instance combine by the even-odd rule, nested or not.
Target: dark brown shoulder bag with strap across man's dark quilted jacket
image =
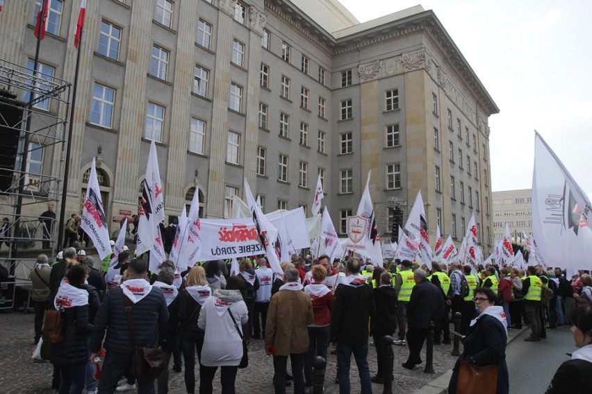
[[[131,301],[123,294],[125,311],[127,315],[127,324],[131,344],[133,345],[133,357],[131,359],[131,375],[138,380],[156,379],[165,369],[163,360],[163,350],[158,348],[142,348],[135,342],[135,332],[133,331],[133,321],[131,320]]]

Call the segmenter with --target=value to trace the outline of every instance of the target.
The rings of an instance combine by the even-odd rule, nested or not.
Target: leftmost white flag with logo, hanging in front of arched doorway
[[[94,167],[94,158],[90,167],[80,226],[88,235],[94,247],[97,248],[101,260],[110,254],[111,241],[109,239],[105,209],[101,201],[97,169]]]

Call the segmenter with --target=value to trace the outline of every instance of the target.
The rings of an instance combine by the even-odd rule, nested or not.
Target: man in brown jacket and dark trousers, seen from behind
[[[304,359],[309,350],[308,325],[313,324],[313,305],[298,283],[298,270],[283,272],[283,286],[275,293],[268,308],[265,325],[265,352],[273,354],[275,394],[286,393],[286,365],[292,363],[294,392],[304,393]]]

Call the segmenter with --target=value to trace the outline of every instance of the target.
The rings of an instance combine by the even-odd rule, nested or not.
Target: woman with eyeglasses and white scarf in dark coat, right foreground
[[[487,287],[474,291],[475,310],[479,314],[471,320],[466,336],[463,336],[464,350],[452,370],[448,393],[457,393],[461,361],[475,366],[497,366],[498,387],[496,393],[509,393],[508,366],[506,364],[507,321],[504,309],[495,306],[498,297]]]

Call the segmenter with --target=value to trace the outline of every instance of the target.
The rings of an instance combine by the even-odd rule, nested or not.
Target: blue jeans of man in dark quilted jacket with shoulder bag
[[[101,378],[99,379],[99,390],[97,394],[113,394],[117,388],[117,382],[120,377],[129,370],[133,352],[120,353],[107,350],[103,369],[101,369]],[[138,380],[138,394],[155,394],[154,379]]]

